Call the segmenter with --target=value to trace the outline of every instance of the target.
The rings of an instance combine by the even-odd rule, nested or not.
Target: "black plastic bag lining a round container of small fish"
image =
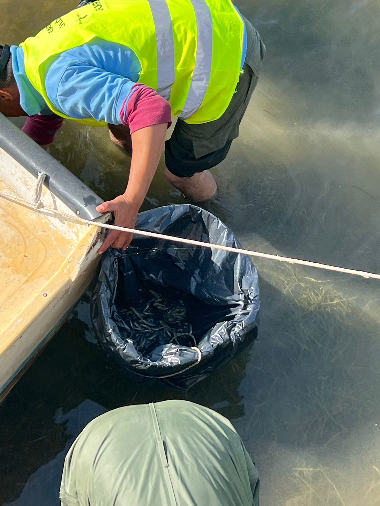
[[[193,205],[139,214],[136,228],[240,247],[215,216]],[[249,257],[135,235],[108,249],[93,292],[95,335],[135,381],[187,389],[257,335],[259,290]]]

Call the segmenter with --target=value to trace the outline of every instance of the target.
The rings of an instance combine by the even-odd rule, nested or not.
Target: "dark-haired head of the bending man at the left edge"
[[[9,46],[0,46],[0,112],[5,116],[25,116],[20,106],[20,93],[12,70]]]

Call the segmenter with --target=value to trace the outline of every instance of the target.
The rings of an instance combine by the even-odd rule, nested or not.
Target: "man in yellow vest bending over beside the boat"
[[[123,194],[98,206],[133,228],[165,145],[166,179],[191,201],[211,198],[209,169],[227,155],[265,47],[230,0],[96,0],[19,47],[0,46],[0,112],[47,145],[63,118],[108,126],[132,149]],[[126,249],[111,231],[99,249]]]

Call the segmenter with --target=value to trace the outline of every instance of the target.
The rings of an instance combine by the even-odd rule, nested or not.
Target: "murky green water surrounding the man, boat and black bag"
[[[268,54],[211,210],[246,247],[380,272],[378,0],[238,5]],[[0,0],[0,40],[73,6]],[[51,153],[103,198],[124,190],[128,163],[105,131],[66,123]],[[144,208],[182,202],[162,168]],[[184,397],[233,421],[263,506],[380,504],[379,284],[256,265],[258,341]],[[85,320],[83,303],[0,407],[1,504],[59,504],[65,452],[88,421],[180,396],[108,370]]]

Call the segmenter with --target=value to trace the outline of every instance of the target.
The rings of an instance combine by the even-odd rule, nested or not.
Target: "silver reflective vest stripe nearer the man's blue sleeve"
[[[165,0],[148,0],[156,27],[157,93],[169,100],[175,79],[173,24]]]

